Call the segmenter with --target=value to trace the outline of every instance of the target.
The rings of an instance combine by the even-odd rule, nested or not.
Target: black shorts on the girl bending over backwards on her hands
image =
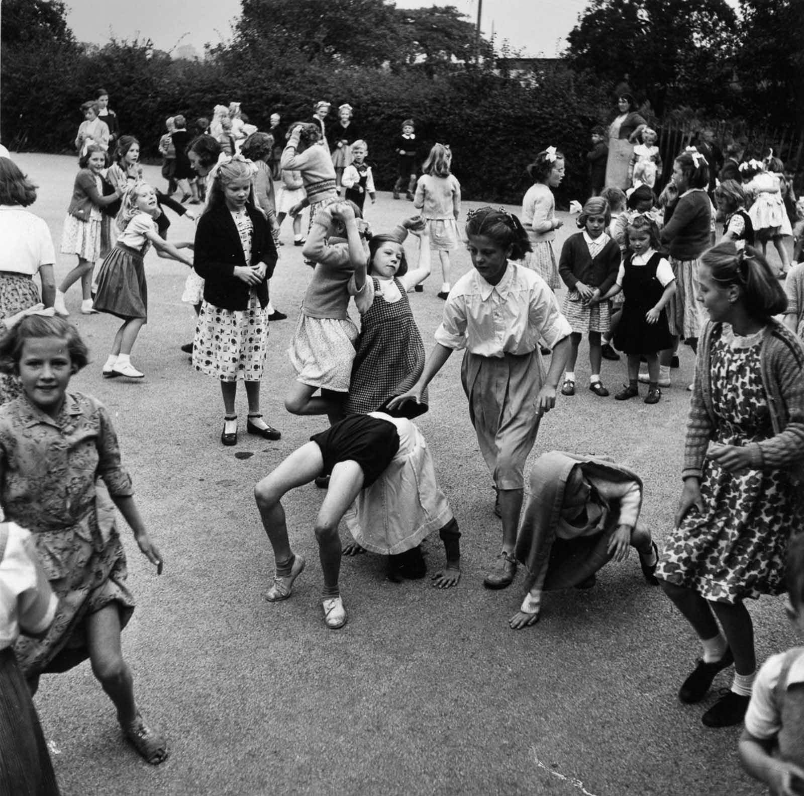
[[[357,462],[363,470],[363,489],[383,474],[400,449],[396,426],[367,414],[341,420],[310,439],[321,448],[327,475],[338,462]]]

